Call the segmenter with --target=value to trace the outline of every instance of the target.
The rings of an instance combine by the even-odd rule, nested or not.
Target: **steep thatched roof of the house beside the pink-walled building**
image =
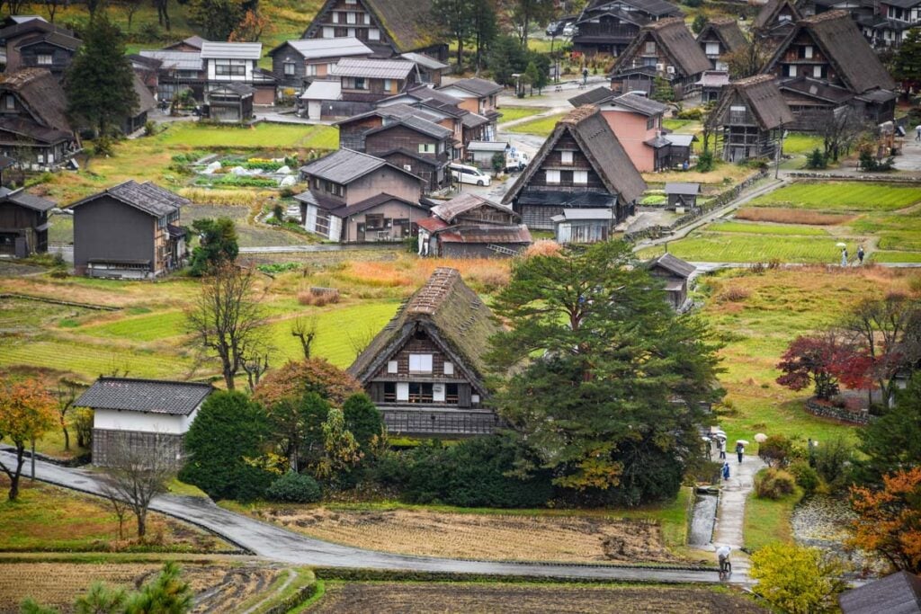
[[[700,49],[694,43],[694,49]],[[582,153],[589,159],[592,168],[598,174],[604,187],[612,194],[618,194],[624,203],[630,203],[646,191],[646,181],[636,170],[624,146],[617,140],[608,122],[598,107],[585,105],[571,110],[559,122],[554,132],[547,137],[541,149],[534,155],[525,172],[519,175],[503,203],[511,203],[530,182],[543,164],[543,160],[554,150],[556,143],[564,134],[571,134]]]

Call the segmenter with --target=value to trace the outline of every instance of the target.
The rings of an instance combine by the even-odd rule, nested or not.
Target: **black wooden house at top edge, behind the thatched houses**
[[[643,26],[681,16],[681,9],[665,0],[592,0],[574,22],[573,51],[617,56]]]

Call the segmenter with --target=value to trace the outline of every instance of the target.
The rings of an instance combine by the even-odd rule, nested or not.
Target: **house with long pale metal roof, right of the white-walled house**
[[[332,66],[343,58],[368,58],[373,51],[358,39],[286,41],[269,52],[278,87],[301,89],[315,79],[332,76]]]

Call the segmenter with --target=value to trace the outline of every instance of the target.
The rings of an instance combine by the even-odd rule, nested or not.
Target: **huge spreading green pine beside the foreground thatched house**
[[[697,454],[701,401],[717,398],[717,345],[676,315],[623,241],[513,265],[495,297],[496,409],[565,488],[601,491],[650,458]],[[631,503],[641,503],[632,501]]]

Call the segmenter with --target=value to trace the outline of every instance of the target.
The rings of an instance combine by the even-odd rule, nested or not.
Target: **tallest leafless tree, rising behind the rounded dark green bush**
[[[243,368],[248,351],[256,347],[264,321],[253,296],[254,279],[252,269],[223,262],[204,277],[202,294],[186,312],[188,329],[202,351],[220,360],[228,390],[234,389],[234,377]]]

